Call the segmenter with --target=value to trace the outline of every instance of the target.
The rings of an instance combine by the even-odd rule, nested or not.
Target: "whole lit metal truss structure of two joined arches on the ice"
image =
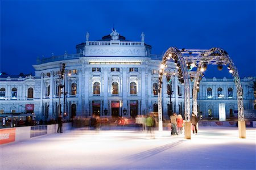
[[[209,50],[198,50],[198,49],[182,49],[179,50],[175,47],[169,48],[163,55],[162,65],[159,70],[159,81],[158,81],[158,111],[159,111],[159,130],[162,130],[162,81],[164,68],[166,62],[169,59],[174,59],[179,66],[178,76],[183,78],[184,82],[184,97],[185,97],[185,138],[191,139],[190,130],[190,91],[189,91],[189,72],[187,69],[187,63],[195,63],[197,65],[196,73],[193,74],[193,113],[197,114],[197,84],[200,83],[200,75],[203,73],[201,68],[203,65],[228,65],[231,73],[234,77],[234,83],[237,88],[237,104],[238,104],[238,130],[239,137],[245,138],[245,118],[243,113],[243,90],[240,81],[238,70],[234,65],[232,59],[228,53],[221,48],[211,48]],[[187,125],[186,125],[187,124]]]

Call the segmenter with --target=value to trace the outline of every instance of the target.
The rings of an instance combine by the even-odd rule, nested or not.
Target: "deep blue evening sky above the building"
[[[100,40],[117,29],[127,40],[152,45],[152,54],[170,46],[220,47],[240,77],[256,76],[255,1],[5,1],[1,5],[0,71],[34,74],[36,58],[76,53],[75,46]],[[209,69],[205,76],[229,75]]]

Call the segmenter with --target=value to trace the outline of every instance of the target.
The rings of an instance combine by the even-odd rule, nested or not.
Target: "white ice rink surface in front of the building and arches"
[[[135,128],[74,129],[0,146],[4,169],[256,169],[256,129],[199,127],[192,139]],[[110,128],[111,129],[111,128]]]

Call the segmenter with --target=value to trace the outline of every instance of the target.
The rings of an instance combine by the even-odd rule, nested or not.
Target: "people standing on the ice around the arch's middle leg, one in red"
[[[171,136],[172,135],[179,135],[183,134],[183,126],[184,126],[184,120],[181,114],[173,113],[170,116],[171,120]],[[196,116],[196,114],[192,113],[191,117],[191,130],[193,134],[197,134],[197,122],[199,121],[199,118]]]

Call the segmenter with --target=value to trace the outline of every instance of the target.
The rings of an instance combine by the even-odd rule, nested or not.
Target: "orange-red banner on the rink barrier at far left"
[[[0,129],[0,145],[15,141],[15,128]]]

